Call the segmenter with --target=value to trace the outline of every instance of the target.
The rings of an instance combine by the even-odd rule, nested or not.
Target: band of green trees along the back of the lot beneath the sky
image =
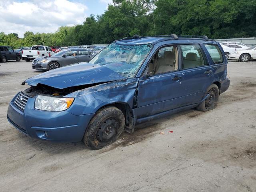
[[[92,14],[83,24],[62,26],[55,33],[27,31],[19,38],[16,33],[0,32],[0,45],[18,48],[43,41],[47,46],[108,44],[134,34],[256,36],[255,0],[113,0],[113,4],[104,14]]]

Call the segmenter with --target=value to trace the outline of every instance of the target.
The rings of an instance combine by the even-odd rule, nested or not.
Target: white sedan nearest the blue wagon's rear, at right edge
[[[256,45],[245,50],[233,52],[228,55],[228,59],[239,60],[241,62],[247,62],[251,59],[256,59]]]

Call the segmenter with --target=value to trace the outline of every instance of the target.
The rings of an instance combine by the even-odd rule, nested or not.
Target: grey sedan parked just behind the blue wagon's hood
[[[32,68],[53,70],[74,63],[89,62],[96,54],[88,49],[65,49],[50,57],[44,56],[34,59]]]

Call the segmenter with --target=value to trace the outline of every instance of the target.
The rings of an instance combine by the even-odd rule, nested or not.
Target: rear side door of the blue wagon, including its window
[[[180,48],[182,52],[181,86],[186,96],[189,96],[187,104],[196,104],[203,99],[207,88],[214,81],[214,71],[200,44],[180,45]]]

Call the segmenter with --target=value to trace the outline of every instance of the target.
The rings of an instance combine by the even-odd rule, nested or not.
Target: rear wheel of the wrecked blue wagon
[[[209,94],[209,95],[208,95]],[[207,96],[208,95],[208,96]],[[216,108],[220,96],[219,88],[216,84],[211,84],[211,86],[207,89],[204,94],[204,98],[207,96],[205,100],[203,100],[196,109],[199,111],[209,111]]]

